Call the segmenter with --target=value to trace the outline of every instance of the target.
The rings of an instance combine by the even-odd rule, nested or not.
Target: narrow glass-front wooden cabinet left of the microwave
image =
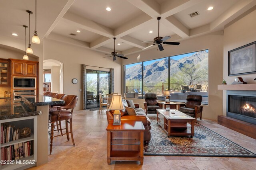
[[[10,86],[10,62],[0,59],[0,86]]]

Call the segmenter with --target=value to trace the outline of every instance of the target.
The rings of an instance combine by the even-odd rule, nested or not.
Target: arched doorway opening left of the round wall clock
[[[52,59],[44,60],[43,68],[44,91],[63,93],[63,63]]]

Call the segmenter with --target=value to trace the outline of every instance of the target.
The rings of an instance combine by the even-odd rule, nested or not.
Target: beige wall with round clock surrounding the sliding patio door
[[[103,53],[92,51],[83,47],[44,39],[44,60],[54,59],[63,63],[64,94],[78,96],[78,105],[75,110],[82,109],[82,64],[114,68],[114,91],[121,93],[121,65],[120,59],[113,61],[112,57],[104,58]],[[99,68],[100,69],[100,68]],[[72,84],[71,80],[77,78],[78,83]]]

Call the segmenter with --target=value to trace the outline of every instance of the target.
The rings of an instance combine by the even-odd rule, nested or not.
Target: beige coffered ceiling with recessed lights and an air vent
[[[222,30],[255,5],[256,0],[38,0],[38,32],[41,38],[102,53],[114,51],[116,37],[116,51],[128,55],[151,45],[142,41],[153,41],[158,36],[157,17],[162,18],[160,36],[171,36],[168,41],[182,41]],[[210,6],[214,9],[208,11]],[[107,7],[112,10],[107,11]],[[34,0],[1,1],[0,35],[12,36],[10,33],[15,30],[22,35],[20,25],[28,22],[24,10],[33,8]],[[191,18],[189,14],[193,12],[199,15]]]

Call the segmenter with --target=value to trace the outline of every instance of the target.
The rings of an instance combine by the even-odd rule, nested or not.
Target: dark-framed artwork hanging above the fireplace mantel
[[[228,76],[256,73],[256,41],[228,51]]]

